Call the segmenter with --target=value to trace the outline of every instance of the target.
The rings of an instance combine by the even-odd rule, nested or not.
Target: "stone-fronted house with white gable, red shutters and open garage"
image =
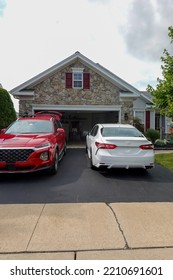
[[[19,99],[19,115],[40,110],[62,112],[70,140],[81,138],[98,122],[132,123],[138,117],[145,130],[157,125],[154,104],[147,92],[140,92],[80,52],[10,93]]]

